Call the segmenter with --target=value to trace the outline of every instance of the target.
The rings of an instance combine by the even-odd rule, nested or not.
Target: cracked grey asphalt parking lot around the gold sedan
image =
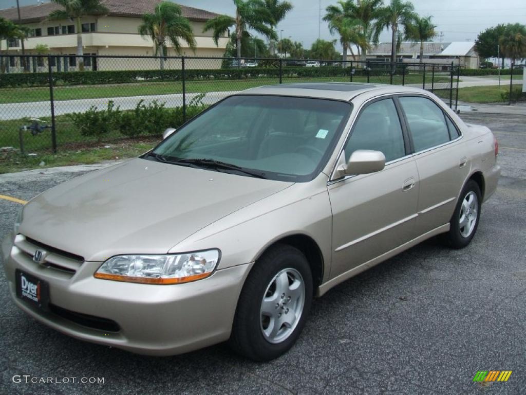
[[[461,114],[488,125],[500,144],[499,189],[473,242],[450,250],[432,239],[332,289],[314,301],[296,346],[270,363],[224,344],[151,358],[78,341],[15,308],[0,274],[0,393],[526,393],[524,109]],[[85,172],[0,176],[0,194],[28,200]],[[0,238],[18,209],[0,200]],[[513,373],[481,386],[472,382],[479,370]],[[16,383],[15,375],[59,382]]]

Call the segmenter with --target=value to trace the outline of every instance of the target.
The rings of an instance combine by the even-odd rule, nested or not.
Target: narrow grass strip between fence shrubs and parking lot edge
[[[12,173],[44,167],[66,166],[74,164],[98,163],[112,159],[135,157],[151,149],[157,140],[146,139],[135,142],[120,141],[104,148],[107,144],[95,144],[80,150],[60,151],[56,154],[43,153],[38,156],[23,156],[18,153],[6,153],[0,156],[0,174]],[[41,162],[45,164],[40,165]]]

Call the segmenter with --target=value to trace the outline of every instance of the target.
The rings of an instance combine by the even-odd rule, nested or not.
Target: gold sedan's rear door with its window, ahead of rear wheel
[[[416,160],[419,184],[417,233],[447,224],[470,168],[460,133],[431,98],[398,98],[407,123]]]

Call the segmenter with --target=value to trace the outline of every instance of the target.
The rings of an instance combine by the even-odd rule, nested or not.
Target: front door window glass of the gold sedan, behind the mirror
[[[400,118],[391,98],[369,104],[358,115],[345,145],[347,161],[356,150],[381,151],[386,162],[406,155]]]

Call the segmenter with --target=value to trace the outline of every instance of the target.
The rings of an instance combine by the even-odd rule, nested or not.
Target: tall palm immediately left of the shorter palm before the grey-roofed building
[[[391,0],[391,4],[381,7],[378,10],[378,15],[375,23],[375,33],[373,41],[378,43],[378,37],[385,28],[391,28],[391,62],[396,62],[397,43],[401,41],[401,34],[399,26],[402,25],[404,29],[416,19],[417,14],[414,13],[414,6],[411,2],[403,2],[402,0]]]

